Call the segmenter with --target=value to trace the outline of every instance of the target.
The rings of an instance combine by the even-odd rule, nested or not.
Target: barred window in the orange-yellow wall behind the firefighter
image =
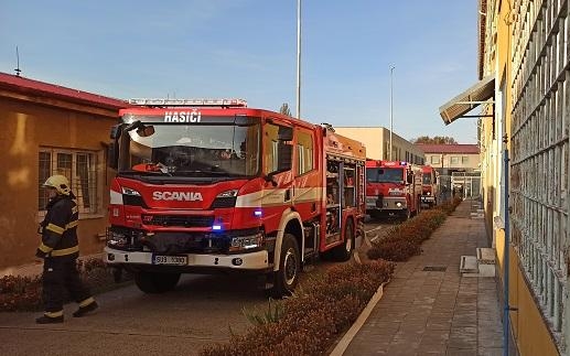
[[[40,149],[39,211],[44,212],[50,201],[49,193],[42,187],[42,184],[53,174],[63,174],[69,180],[72,191],[77,198],[79,213],[98,213],[96,168],[97,154],[94,152]]]

